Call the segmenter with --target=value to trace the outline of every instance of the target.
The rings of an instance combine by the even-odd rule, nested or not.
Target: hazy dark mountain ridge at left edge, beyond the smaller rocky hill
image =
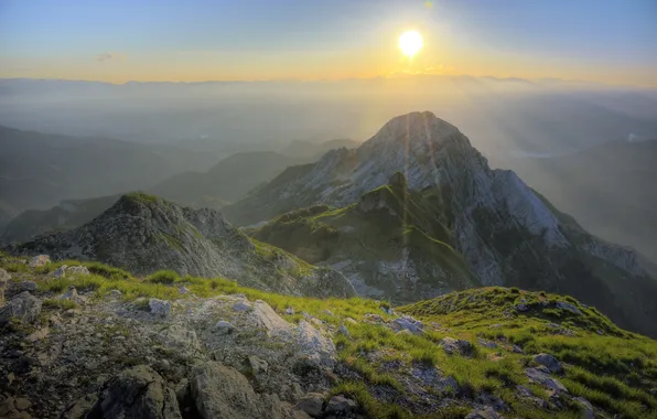
[[[207,168],[213,160],[172,146],[6,127],[0,127],[0,202],[15,212],[143,189],[191,168]]]

